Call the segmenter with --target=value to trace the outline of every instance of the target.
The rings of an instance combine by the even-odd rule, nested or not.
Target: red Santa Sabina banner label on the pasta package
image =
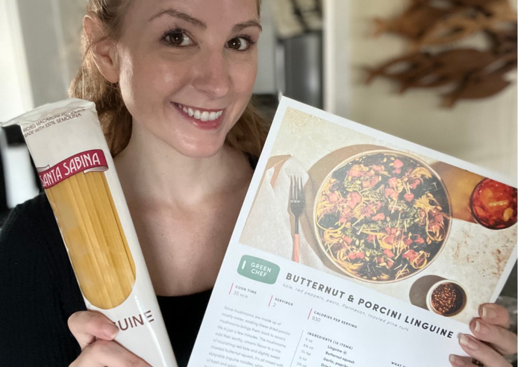
[[[77,153],[52,167],[37,168],[39,179],[45,189],[59,184],[61,181],[80,172],[100,172],[108,170],[106,157],[100,149]]]

